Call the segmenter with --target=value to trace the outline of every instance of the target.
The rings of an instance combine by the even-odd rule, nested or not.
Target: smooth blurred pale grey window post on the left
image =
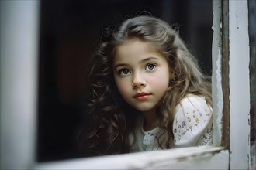
[[[0,168],[36,162],[39,1],[0,1]]]

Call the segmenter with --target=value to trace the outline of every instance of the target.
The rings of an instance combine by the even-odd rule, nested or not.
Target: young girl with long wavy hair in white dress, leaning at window
[[[166,22],[142,15],[106,29],[89,66],[87,155],[212,144],[210,82]]]

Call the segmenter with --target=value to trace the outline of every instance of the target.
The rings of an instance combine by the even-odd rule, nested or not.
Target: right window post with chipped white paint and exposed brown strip
[[[227,17],[228,24],[225,23]],[[225,32],[226,29],[228,32]],[[223,43],[227,43],[227,46],[223,44],[223,55],[227,55],[223,58],[227,60],[223,61],[225,79],[222,144],[230,148],[230,169],[250,169],[250,50],[247,1],[223,0],[223,31]]]

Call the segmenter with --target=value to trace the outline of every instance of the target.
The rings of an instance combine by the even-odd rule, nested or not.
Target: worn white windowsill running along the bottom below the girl
[[[200,146],[40,163],[34,169],[228,169],[229,151]]]

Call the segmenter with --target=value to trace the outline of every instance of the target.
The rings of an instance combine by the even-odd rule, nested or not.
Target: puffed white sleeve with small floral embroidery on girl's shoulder
[[[175,148],[213,143],[213,109],[204,97],[185,97],[176,107],[173,123]]]

